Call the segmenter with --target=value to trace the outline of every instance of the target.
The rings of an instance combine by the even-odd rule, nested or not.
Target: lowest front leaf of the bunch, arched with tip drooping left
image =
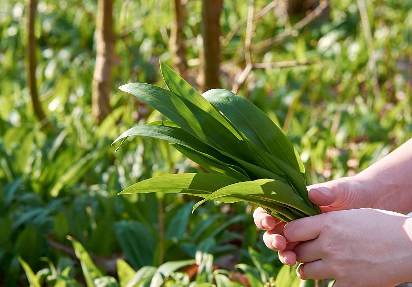
[[[302,198],[294,194],[289,185],[275,179],[257,179],[227,185],[198,202],[193,209],[196,209],[207,200],[221,200],[226,196],[242,197],[246,200],[250,198],[251,202],[258,200],[280,203],[294,207],[307,215],[319,214],[315,208],[307,206]]]

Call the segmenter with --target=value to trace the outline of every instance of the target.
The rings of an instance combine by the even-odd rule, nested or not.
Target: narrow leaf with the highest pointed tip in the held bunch
[[[210,103],[204,97],[202,97],[202,95],[195,88],[193,88],[188,82],[185,81],[185,79],[179,76],[168,65],[166,65],[162,61],[159,62],[164,82],[171,92],[189,100],[190,102],[204,110],[207,114],[213,116],[234,135],[241,139],[241,136],[227,121],[227,119],[223,115],[221,115],[215,107],[210,105]]]

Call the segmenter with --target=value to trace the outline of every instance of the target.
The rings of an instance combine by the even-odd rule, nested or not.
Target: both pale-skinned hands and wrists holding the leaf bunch
[[[412,139],[351,177],[308,186],[323,214],[285,224],[263,209],[255,224],[301,279],[334,287],[393,287],[412,281]]]

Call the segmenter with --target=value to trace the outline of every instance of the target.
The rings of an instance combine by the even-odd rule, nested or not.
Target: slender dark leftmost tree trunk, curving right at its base
[[[36,38],[34,36],[34,22],[36,19],[37,0],[27,1],[27,83],[30,89],[31,102],[33,104],[34,115],[39,121],[46,123],[46,114],[43,111],[39,100],[36,83]]]

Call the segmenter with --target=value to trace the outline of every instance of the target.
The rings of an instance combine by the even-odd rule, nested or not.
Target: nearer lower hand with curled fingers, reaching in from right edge
[[[284,238],[299,242],[293,254],[303,263],[301,279],[334,278],[334,287],[393,287],[412,280],[412,218],[399,213],[366,208],[301,218],[285,225]],[[296,263],[280,253],[283,263]]]

